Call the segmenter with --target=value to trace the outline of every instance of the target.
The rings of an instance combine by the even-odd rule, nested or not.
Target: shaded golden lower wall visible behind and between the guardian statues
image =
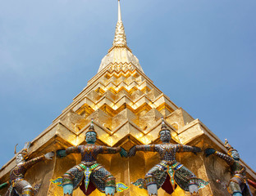
[[[194,142],[189,145],[197,145],[205,149],[209,146],[218,149],[212,140],[208,137],[203,137],[200,140],[194,140]],[[59,145],[54,148],[62,149]],[[66,147],[65,147],[66,148]],[[126,146],[127,149],[130,146]],[[216,180],[221,180],[223,183],[228,183],[230,180],[230,170],[229,166],[221,158],[216,156],[210,156],[206,158],[203,153],[193,154],[193,153],[180,153],[176,154],[176,160],[184,164],[185,167],[193,171],[196,176],[202,178],[203,180],[209,180],[211,183],[203,189],[199,190],[200,195],[212,196],[212,195],[223,195],[228,196],[226,189],[223,185],[217,183]],[[56,179],[62,176],[71,167],[80,163],[80,154],[70,154],[66,158],[53,158],[53,161],[44,160],[41,163],[31,167],[25,178],[33,182],[32,185],[41,184],[39,189],[39,196],[62,196],[62,188],[53,185],[49,180]],[[147,171],[155,164],[159,163],[159,158],[157,153],[144,153],[137,152],[135,157],[132,158],[121,158],[119,154],[103,154],[98,156],[98,163],[101,163],[105,168],[112,173],[113,176],[117,178],[117,182],[123,182],[130,187],[130,189],[125,190],[122,193],[117,193],[120,196],[146,196],[147,191],[145,189],[139,189],[135,185],[131,185],[138,178],[143,178]],[[256,195],[255,189],[251,189],[253,195]],[[7,189],[3,189],[0,194],[4,194]],[[165,193],[161,188],[158,190],[158,194],[162,196],[167,196],[169,194]],[[80,189],[76,189],[74,196],[84,195]],[[95,190],[91,196],[104,195],[98,190]],[[177,187],[175,192],[171,194],[172,196],[188,196],[189,193],[185,193],[180,187]]]

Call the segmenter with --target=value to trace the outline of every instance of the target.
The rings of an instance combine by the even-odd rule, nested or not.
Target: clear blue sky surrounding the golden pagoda
[[[256,1],[121,1],[128,46],[154,84],[255,167]],[[116,0],[0,1],[0,165],[98,71]]]

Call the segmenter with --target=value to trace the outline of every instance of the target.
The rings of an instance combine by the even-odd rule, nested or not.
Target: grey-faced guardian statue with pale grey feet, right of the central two
[[[189,145],[171,144],[171,131],[162,118],[162,128],[159,131],[162,144],[159,145],[135,145],[129,151],[129,156],[134,156],[136,151],[158,152],[161,162],[152,167],[144,179],[139,179],[132,183],[141,189],[148,189],[150,196],[158,195],[158,189],[162,187],[167,194],[171,194],[176,188],[176,184],[190,191],[191,195],[199,195],[198,189],[208,185],[208,182],[194,176],[194,174],[176,161],[176,153],[179,152],[201,152],[198,147]],[[171,185],[170,185],[171,184]]]

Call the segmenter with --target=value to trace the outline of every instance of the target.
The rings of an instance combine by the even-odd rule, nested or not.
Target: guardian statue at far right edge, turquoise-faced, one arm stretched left
[[[233,149],[231,145],[225,140],[225,147],[228,150],[227,154],[222,154],[215,149],[205,149],[204,153],[206,157],[211,154],[216,155],[219,158],[222,158],[226,161],[226,163],[231,167],[231,180],[227,185],[227,191],[233,196],[252,196],[248,181],[246,179],[246,168],[243,166],[239,160],[240,155],[238,154],[236,149]]]

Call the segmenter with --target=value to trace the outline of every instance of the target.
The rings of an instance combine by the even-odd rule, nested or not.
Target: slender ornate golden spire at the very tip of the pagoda
[[[124,25],[121,21],[121,7],[120,7],[120,0],[118,0],[118,20],[117,20],[115,38],[113,41],[113,47],[125,47],[126,45],[127,45],[126,33],[125,33]]]

